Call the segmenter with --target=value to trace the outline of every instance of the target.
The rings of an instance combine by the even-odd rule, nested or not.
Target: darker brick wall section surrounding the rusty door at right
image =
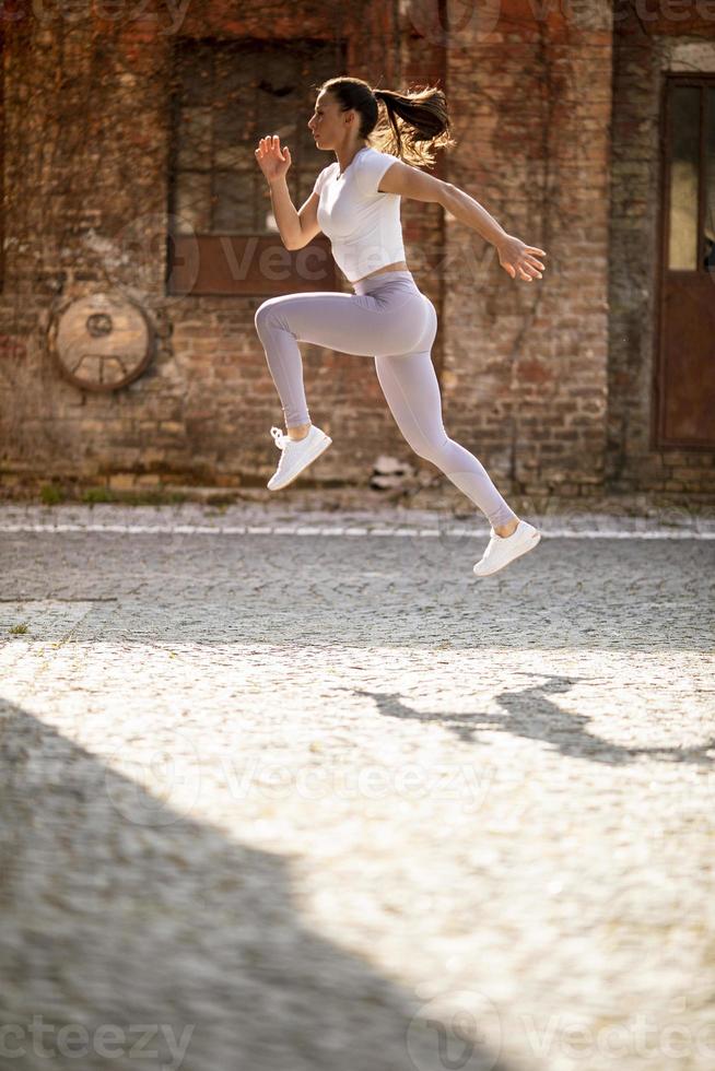
[[[608,483],[617,491],[712,494],[712,449],[663,449],[654,443],[663,259],[663,78],[676,71],[715,75],[715,3],[654,5],[646,19],[623,12],[618,27],[611,149]],[[710,151],[714,153],[715,146]],[[712,330],[705,322],[701,327],[703,332]]]

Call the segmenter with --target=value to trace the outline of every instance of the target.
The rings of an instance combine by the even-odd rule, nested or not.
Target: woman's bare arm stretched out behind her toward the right
[[[546,271],[544,264],[537,259],[538,256],[547,256],[544,249],[527,246],[520,238],[507,234],[479,201],[453,183],[445,183],[419,167],[396,160],[383,175],[377,189],[380,193],[400,193],[415,201],[442,204],[456,220],[466,223],[491,242],[499,254],[500,264],[512,279],[518,276],[531,282],[534,279],[541,279],[541,272]]]

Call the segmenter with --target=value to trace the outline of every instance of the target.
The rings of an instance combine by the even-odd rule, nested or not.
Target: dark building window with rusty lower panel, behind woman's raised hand
[[[181,40],[175,51],[167,290],[276,294],[336,289],[330,245],[318,235],[285,249],[256,161],[260,138],[291,149],[297,210],[332,155],[308,129],[318,86],[343,70],[330,40]],[[328,158],[330,156],[330,158]]]

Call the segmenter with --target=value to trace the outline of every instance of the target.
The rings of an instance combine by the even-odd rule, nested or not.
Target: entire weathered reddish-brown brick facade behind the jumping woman
[[[161,8],[8,22],[3,483],[265,486],[281,410],[254,327],[263,297],[167,294],[167,72],[178,37],[300,35],[344,38],[347,71],[373,85],[445,89],[458,145],[436,174],[548,251],[543,280],[515,283],[476,232],[403,202],[408,263],[439,313],[448,434],[504,493],[715,492],[712,450],[650,446],[658,78],[693,31],[666,20],[635,35],[612,14],[597,0],[503,0],[487,15],[363,0],[350,13],[214,2],[180,22]],[[698,32],[689,57],[715,70],[715,13]],[[267,188],[265,199],[269,210]],[[155,345],[139,378],[104,393],[69,382],[47,343],[58,308],[96,292],[136,301]],[[302,352],[312,416],[336,440],[318,483],[364,485],[385,452],[434,474],[395,426],[370,358]]]

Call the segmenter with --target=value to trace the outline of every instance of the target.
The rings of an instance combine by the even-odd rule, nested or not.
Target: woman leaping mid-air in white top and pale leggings
[[[378,102],[386,111],[379,123]],[[308,127],[317,148],[333,152],[337,160],[320,172],[300,212],[285,183],[290,149],[281,149],[277,134],[261,138],[256,160],[270,187],[285,248],[302,249],[325,233],[354,294],[289,294],[271,297],[256,310],[256,331],[286,428],[286,434],[271,428],[282,452],[268,487],[288,486],[332,442],[310,422],[297,343],[373,356],[387,404],[409,445],[488,517],[490,541],[474,573],[489,576],[532,550],[541,533],[516,516],[481,462],[445,432],[431,356],[437,315],[405,260],[400,198],[442,204],[495,246],[500,264],[514,280],[541,279],[544,266],[538,257],[547,255],[506,234],[458,187],[414,166],[434,163],[431,148],[455,144],[441,90],[373,92],[359,78],[329,79],[320,87]],[[376,144],[367,141],[373,131]]]

